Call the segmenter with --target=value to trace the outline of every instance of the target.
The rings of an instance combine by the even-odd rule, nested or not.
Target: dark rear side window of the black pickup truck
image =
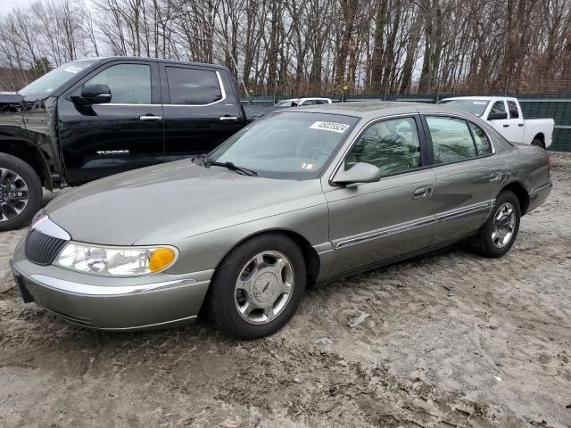
[[[222,99],[218,76],[212,70],[165,67],[171,104],[204,105]]]

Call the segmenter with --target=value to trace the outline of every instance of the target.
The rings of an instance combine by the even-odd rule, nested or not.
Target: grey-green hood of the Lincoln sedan
[[[185,160],[63,192],[46,214],[75,241],[161,244],[320,203],[319,180],[247,177]]]

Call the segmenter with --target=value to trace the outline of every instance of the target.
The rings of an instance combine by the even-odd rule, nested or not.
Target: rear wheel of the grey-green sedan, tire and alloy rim
[[[509,210],[513,212],[513,222]],[[478,234],[470,238],[471,250],[489,258],[503,256],[516,241],[520,220],[521,208],[517,196],[509,190],[502,191],[493,204],[490,218]]]

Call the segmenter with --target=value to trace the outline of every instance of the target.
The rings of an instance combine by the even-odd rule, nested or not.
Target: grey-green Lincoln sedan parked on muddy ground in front
[[[460,240],[504,255],[550,188],[547,152],[462,111],[299,107],[207,155],[63,193],[12,270],[24,302],[78,325],[137,330],[200,313],[254,339],[294,316],[308,284]]]

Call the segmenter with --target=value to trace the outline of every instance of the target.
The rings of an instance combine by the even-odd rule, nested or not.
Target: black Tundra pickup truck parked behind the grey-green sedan
[[[210,152],[249,119],[224,67],[123,57],[64,64],[0,93],[0,231],[33,217],[42,186]]]

